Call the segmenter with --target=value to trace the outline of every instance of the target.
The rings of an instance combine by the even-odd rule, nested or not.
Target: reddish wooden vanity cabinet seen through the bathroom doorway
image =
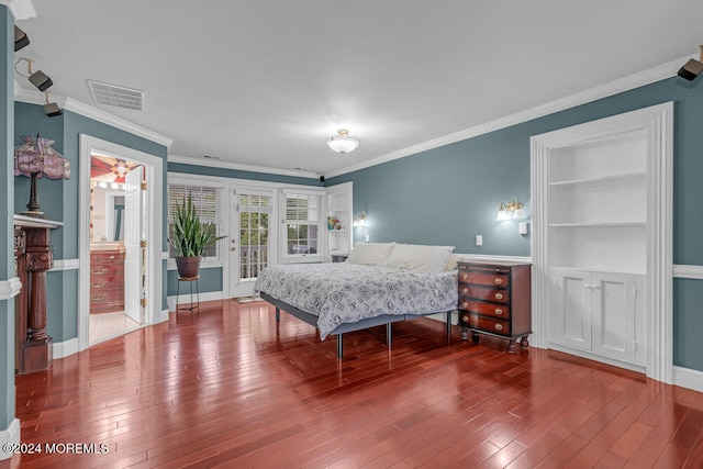
[[[124,249],[90,252],[90,314],[124,311]]]

